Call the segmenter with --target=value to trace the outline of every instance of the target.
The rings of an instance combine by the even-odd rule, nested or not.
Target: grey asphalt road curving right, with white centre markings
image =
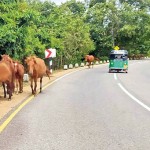
[[[148,150],[150,60],[108,64],[58,80],[0,134],[0,150]]]

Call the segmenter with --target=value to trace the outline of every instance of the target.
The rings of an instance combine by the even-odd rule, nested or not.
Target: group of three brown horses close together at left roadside
[[[8,94],[8,99],[14,92],[16,94],[23,92],[23,77],[25,73],[24,66],[18,61],[13,60],[9,55],[1,55],[0,61],[0,82],[4,89],[4,98]],[[50,71],[46,67],[44,60],[36,56],[29,56],[25,59],[27,72],[31,81],[32,94],[36,94],[37,80],[40,78],[40,92],[42,91],[42,79],[45,74],[50,78]],[[34,83],[34,85],[33,85]]]

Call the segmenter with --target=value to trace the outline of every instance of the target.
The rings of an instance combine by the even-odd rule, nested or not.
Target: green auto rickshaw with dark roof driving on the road
[[[113,71],[128,73],[127,50],[111,50],[109,55],[109,73]]]

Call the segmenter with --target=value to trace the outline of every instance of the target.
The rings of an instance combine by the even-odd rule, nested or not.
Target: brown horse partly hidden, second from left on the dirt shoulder
[[[15,88],[16,88],[16,94],[18,94],[18,91],[19,93],[23,92],[24,66],[18,61],[13,61],[13,62],[15,68]]]

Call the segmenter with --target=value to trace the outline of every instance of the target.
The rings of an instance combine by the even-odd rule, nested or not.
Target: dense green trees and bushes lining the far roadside
[[[55,48],[55,69],[81,62],[85,54],[108,57],[115,46],[130,57],[150,56],[149,0],[0,1],[0,54],[22,63],[29,55],[44,59]]]

